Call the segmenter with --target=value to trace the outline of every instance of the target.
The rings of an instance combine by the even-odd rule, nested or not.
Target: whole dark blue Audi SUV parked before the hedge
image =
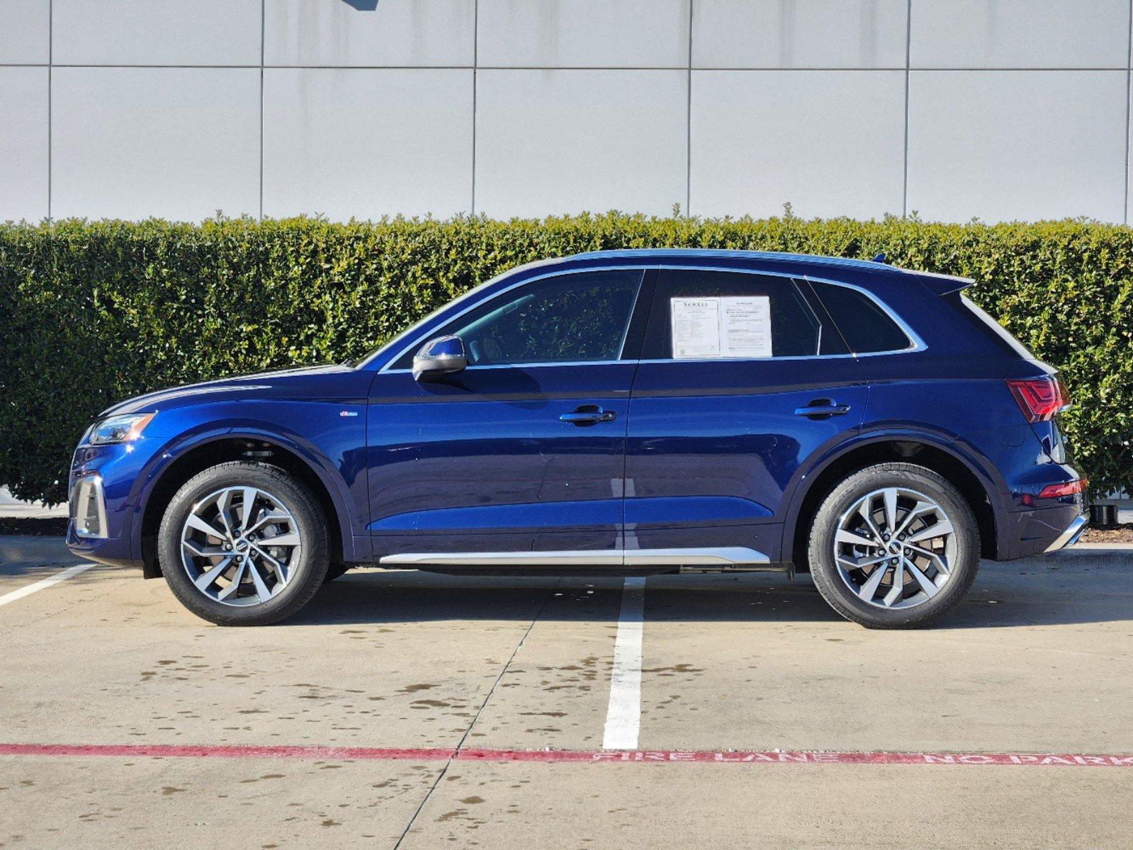
[[[360,364],[104,411],[75,452],[68,545],[233,626],[358,564],[809,570],[843,617],[920,626],[980,558],[1085,524],[1065,390],[971,282],[753,252],[525,265]]]

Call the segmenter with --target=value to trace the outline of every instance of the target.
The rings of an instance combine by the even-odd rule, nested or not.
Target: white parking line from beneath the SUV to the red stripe
[[[641,730],[641,621],[645,615],[645,578],[629,577],[622,587],[622,611],[614,640],[614,669],[610,675],[610,707],[603,749],[637,749]]]

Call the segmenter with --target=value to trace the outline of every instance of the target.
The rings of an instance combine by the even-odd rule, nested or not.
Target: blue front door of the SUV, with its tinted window
[[[427,334],[461,338],[462,372],[416,381],[420,339],[375,376],[367,433],[377,558],[620,563],[636,366],[621,357],[642,277],[571,272],[505,289]]]

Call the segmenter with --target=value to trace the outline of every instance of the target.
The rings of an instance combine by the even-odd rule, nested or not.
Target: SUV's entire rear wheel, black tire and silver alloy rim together
[[[815,515],[808,546],[819,593],[847,620],[877,629],[923,626],[976,580],[979,526],[943,476],[878,464],[845,478]]]

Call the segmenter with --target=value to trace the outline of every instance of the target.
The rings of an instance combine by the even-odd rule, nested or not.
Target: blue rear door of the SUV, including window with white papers
[[[657,274],[633,381],[625,563],[780,559],[784,491],[854,432],[866,377],[806,282],[729,270]]]

